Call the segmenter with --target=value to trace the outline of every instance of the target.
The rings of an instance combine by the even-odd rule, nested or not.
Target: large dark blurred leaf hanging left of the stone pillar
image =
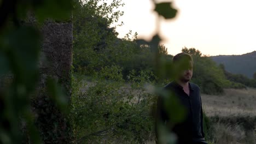
[[[18,81],[34,87],[38,77],[40,35],[33,27],[20,27],[10,32],[6,39],[11,69]]]

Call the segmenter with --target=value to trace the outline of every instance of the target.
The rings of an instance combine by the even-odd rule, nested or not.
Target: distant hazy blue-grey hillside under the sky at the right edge
[[[256,72],[256,51],[243,55],[213,56],[213,61],[224,64],[226,71],[232,74],[243,74],[249,78]]]

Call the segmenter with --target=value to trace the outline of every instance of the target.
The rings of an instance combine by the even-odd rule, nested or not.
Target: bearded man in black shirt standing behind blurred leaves
[[[173,132],[177,136],[179,144],[203,144],[206,143],[203,133],[203,113],[200,96],[200,88],[189,82],[193,75],[193,58],[188,53],[178,53],[173,57],[173,68],[175,73],[174,80],[166,85],[163,91],[167,91],[167,96],[160,95],[157,106],[156,117],[156,137],[157,143],[162,142],[162,133],[159,125],[164,125],[168,132]],[[170,105],[176,97],[177,103],[180,103],[185,109],[185,116],[182,122],[172,122]],[[169,98],[169,99],[168,99]],[[176,109],[173,107],[173,109]],[[175,112],[175,111],[174,111]],[[177,112],[176,112],[177,113]],[[206,143],[207,144],[207,143]]]

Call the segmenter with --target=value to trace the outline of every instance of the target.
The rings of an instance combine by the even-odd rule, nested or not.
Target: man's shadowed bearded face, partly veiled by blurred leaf
[[[182,82],[189,82],[193,75],[193,63],[189,61],[187,67],[185,67],[179,75],[179,80]]]

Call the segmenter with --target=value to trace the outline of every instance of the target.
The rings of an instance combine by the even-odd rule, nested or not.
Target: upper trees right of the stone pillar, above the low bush
[[[113,1],[108,7],[114,9],[121,5]],[[92,75],[102,67],[119,65],[123,69],[124,79],[131,70],[135,70],[137,74],[141,70],[152,70],[155,74],[156,62],[153,58],[155,52],[158,52],[162,58],[167,55],[167,48],[158,44],[159,37],[154,37],[150,43],[147,41],[142,44],[137,40],[137,33],[132,35],[130,31],[123,39],[117,38],[114,28],[110,28],[112,22],[110,18],[115,12],[106,12],[109,15],[95,12],[105,8],[104,3],[102,5],[95,5],[91,1],[77,3],[74,10],[74,71]],[[116,19],[123,14],[117,12]]]

